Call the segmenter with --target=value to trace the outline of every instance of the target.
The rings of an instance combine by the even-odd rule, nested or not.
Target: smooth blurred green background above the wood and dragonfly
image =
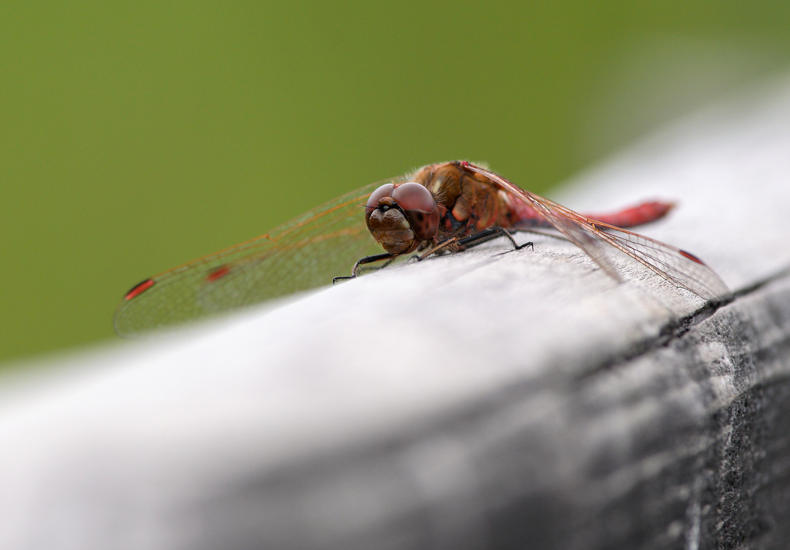
[[[461,158],[540,193],[788,62],[790,2],[6,0],[0,360],[355,187]]]

